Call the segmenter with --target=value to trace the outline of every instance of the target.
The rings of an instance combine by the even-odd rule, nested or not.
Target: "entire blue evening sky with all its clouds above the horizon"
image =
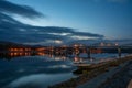
[[[0,41],[130,43],[132,0],[0,0]]]

